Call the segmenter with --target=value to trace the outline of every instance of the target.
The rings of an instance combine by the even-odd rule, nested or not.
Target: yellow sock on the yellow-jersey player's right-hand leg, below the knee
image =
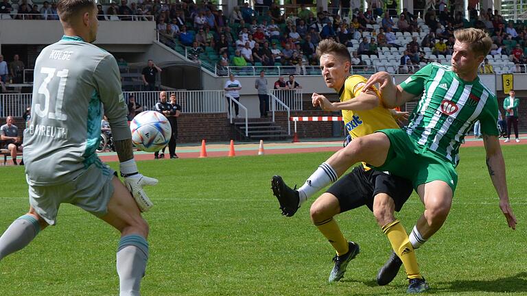
[[[382,227],[382,232],[388,236],[393,251],[395,251],[395,254],[401,258],[408,278],[421,278],[414,248],[412,247],[412,244],[408,239],[408,234],[406,233],[406,230],[404,230],[403,225],[401,225],[401,222],[395,220],[392,223],[384,225]]]

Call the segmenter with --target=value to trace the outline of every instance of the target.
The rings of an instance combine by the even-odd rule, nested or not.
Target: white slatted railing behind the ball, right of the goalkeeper
[[[134,95],[135,101],[143,106],[143,110],[154,110],[159,101],[159,91],[124,92],[128,101]],[[224,103],[224,90],[176,90],[166,91],[167,101],[173,93],[176,102],[180,104],[185,113],[223,113],[226,112]]]

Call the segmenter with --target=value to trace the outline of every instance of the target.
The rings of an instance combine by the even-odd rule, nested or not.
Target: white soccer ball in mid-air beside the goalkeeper
[[[165,147],[172,136],[172,127],[168,119],[156,111],[143,111],[130,123],[132,143],[139,150],[159,151]]]

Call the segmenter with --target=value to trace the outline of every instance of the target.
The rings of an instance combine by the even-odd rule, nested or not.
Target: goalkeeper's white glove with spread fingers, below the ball
[[[137,206],[141,212],[146,212],[154,206],[148,195],[146,195],[143,186],[154,186],[157,184],[157,179],[145,177],[137,171],[137,164],[135,160],[127,160],[120,164],[121,177],[124,177],[124,185],[134,197]]]

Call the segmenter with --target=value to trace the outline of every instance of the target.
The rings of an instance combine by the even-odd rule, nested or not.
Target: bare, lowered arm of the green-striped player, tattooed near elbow
[[[487,169],[489,169],[489,175],[497,195],[500,197],[500,209],[507,219],[508,227],[515,230],[517,221],[508,201],[505,161],[500,147],[500,140],[497,136],[483,134],[483,143],[487,152]]]

